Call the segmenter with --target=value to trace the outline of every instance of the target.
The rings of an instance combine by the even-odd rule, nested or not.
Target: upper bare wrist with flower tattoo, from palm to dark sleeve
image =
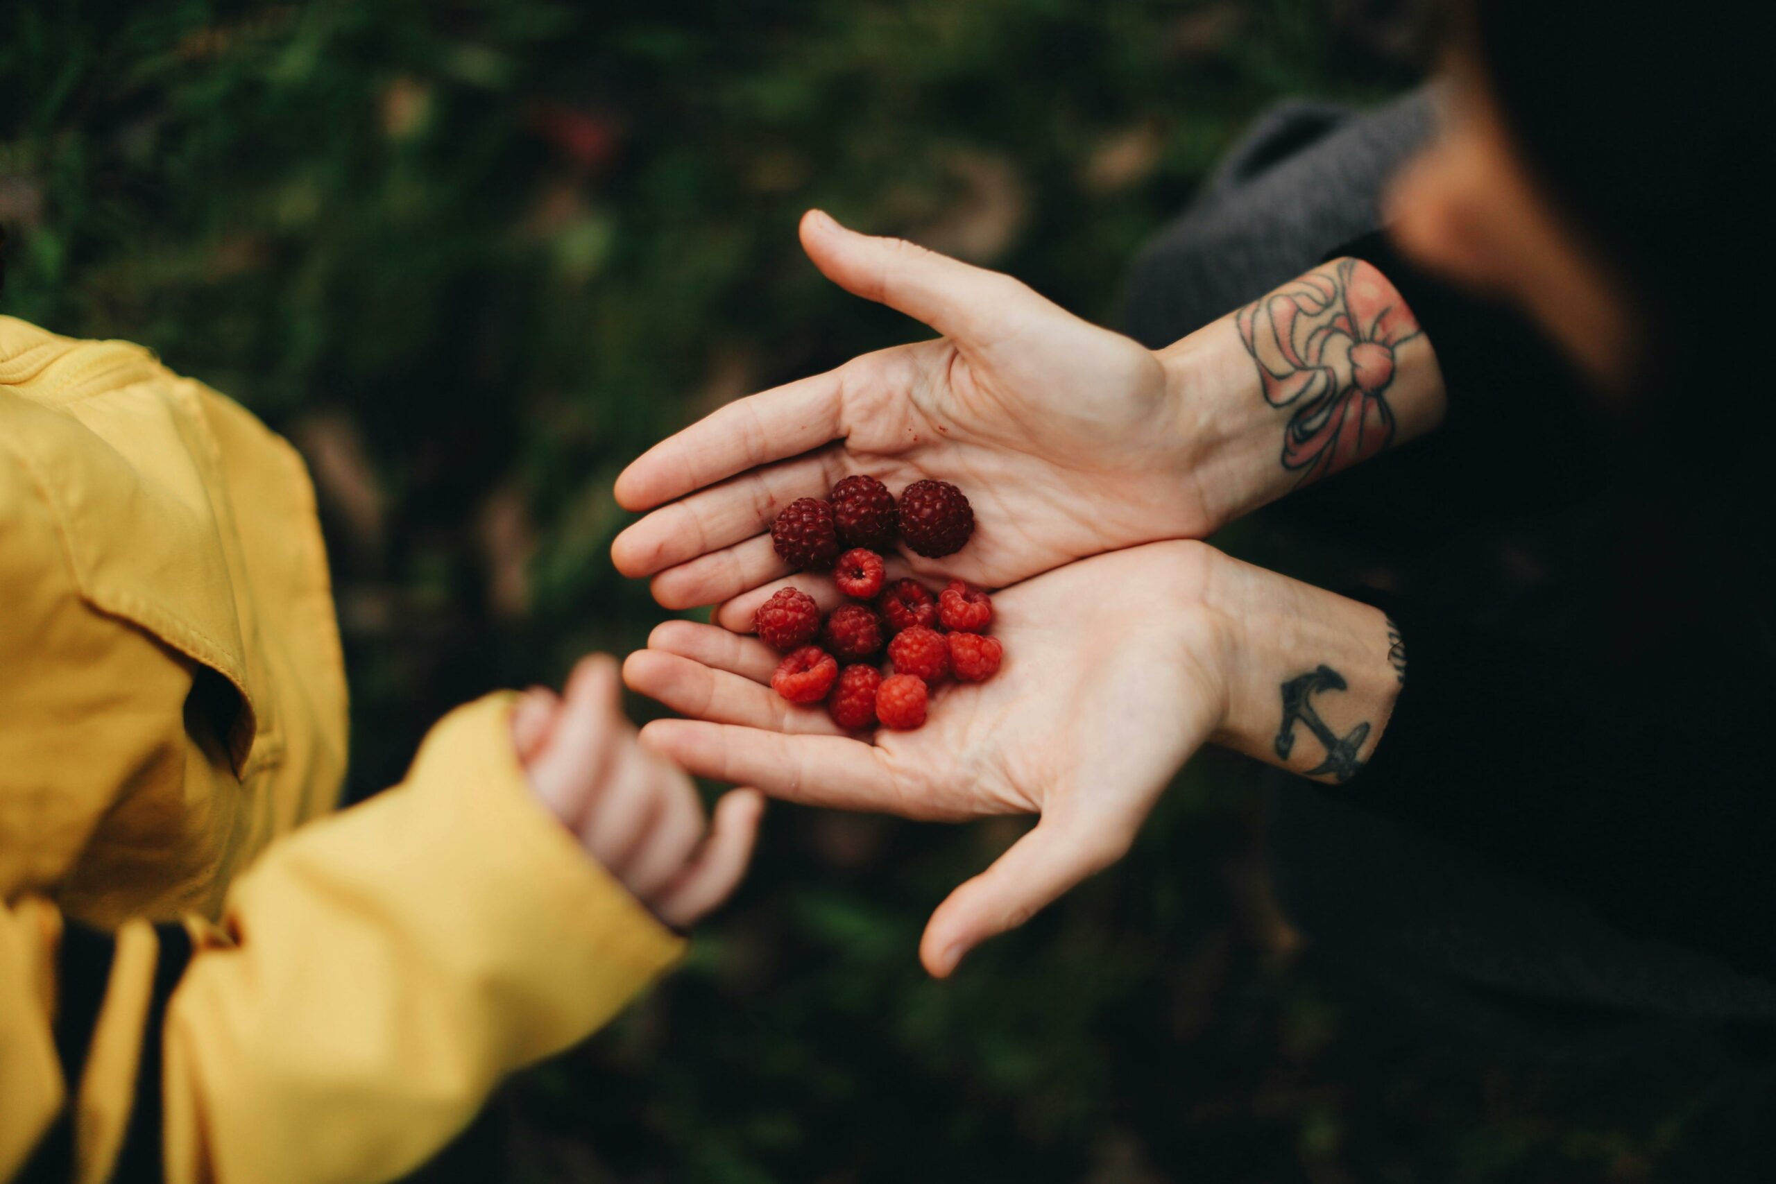
[[[1158,357],[1215,527],[1444,417],[1430,339],[1360,259],[1318,266]]]

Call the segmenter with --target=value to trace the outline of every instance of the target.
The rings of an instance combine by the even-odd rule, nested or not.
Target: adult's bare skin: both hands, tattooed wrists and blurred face
[[[1442,138],[1394,188],[1401,245],[1517,298],[1600,385],[1625,385],[1636,330],[1621,286],[1538,193],[1472,75],[1449,103]],[[1385,277],[1332,261],[1147,351],[915,245],[819,213],[801,236],[842,288],[941,337],[730,405],[618,479],[618,501],[650,513],[616,540],[616,566],[652,577],[666,607],[718,604],[716,627],[662,625],[625,664],[630,687],[687,715],[648,724],[648,744],[799,802],[1037,815],[934,912],[920,957],[936,976],[1114,863],[1202,744],[1321,779],[1360,770],[1385,740],[1412,639],[1373,607],[1190,540],[1442,422],[1433,343],[1392,307]],[[1380,323],[1375,309],[1399,323],[1352,328]],[[1334,335],[1305,348],[1312,330]],[[1307,462],[1304,447],[1327,438],[1323,408],[1364,431]],[[968,547],[890,557],[890,579],[911,568],[1003,588],[998,676],[940,687],[924,730],[874,742],[778,699],[774,655],[739,635],[787,575],[765,536],[776,509],[851,472],[890,488],[948,479],[975,504]],[[790,582],[836,602],[824,577]],[[1300,694],[1286,706],[1304,683],[1311,722]]]

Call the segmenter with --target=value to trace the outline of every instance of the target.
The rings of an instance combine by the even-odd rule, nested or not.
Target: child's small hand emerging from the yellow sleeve
[[[641,747],[623,717],[611,659],[581,660],[565,698],[526,694],[511,738],[536,795],[666,925],[689,927],[741,882],[764,797],[733,790],[705,825],[691,779]]]

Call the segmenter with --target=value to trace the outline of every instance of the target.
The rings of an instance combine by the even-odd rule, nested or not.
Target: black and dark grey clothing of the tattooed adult
[[[1330,953],[1488,1038],[1776,1019],[1769,692],[1696,653],[1694,618],[1730,614],[1732,582],[1682,540],[1637,545],[1684,533],[1661,525],[1669,490],[1621,485],[1632,433],[1533,327],[1375,234],[1376,195],[1426,130],[1423,96],[1362,117],[1284,108],[1128,295],[1131,330],[1162,344],[1357,254],[1444,369],[1435,435],[1268,511],[1346,552],[1350,575],[1384,575],[1391,591],[1359,596],[1399,625],[1408,664],[1362,774],[1279,785],[1279,882]]]

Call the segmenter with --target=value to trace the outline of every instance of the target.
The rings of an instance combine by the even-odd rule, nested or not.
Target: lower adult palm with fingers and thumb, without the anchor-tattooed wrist
[[[694,774],[815,806],[1039,824],[932,916],[922,959],[948,975],[971,946],[1028,920],[1128,849],[1160,792],[1220,726],[1227,689],[1199,543],[1073,563],[995,598],[1003,669],[936,689],[918,731],[840,731],[778,698],[757,637],[668,621],[623,676],[691,719],[643,742]],[[826,600],[836,593],[826,586]]]

